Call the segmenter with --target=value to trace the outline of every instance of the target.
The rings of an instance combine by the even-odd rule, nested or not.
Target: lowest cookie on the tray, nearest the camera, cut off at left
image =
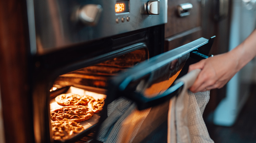
[[[54,140],[67,140],[77,133],[84,131],[80,123],[74,121],[53,121],[52,131]]]

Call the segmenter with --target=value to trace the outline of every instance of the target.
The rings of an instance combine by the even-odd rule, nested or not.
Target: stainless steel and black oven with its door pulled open
[[[208,57],[214,37],[164,51],[167,0],[27,0],[27,8],[32,112],[27,126],[33,130],[27,138],[167,142],[168,101],[183,87],[173,82],[189,64]],[[53,127],[52,111],[66,107],[56,97],[68,93],[104,99],[99,113],[79,121],[83,129],[77,133],[57,130],[66,123]]]

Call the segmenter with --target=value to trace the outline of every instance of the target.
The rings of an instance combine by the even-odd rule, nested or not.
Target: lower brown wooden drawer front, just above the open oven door
[[[192,28],[185,32],[181,32],[178,35],[174,35],[165,38],[165,51],[172,50],[174,48],[180,47],[184,44],[197,40],[201,38],[202,29],[200,27]]]

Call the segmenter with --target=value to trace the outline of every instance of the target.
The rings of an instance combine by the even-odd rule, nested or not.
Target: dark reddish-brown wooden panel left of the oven
[[[6,143],[33,142],[26,0],[0,1],[0,83]]]

